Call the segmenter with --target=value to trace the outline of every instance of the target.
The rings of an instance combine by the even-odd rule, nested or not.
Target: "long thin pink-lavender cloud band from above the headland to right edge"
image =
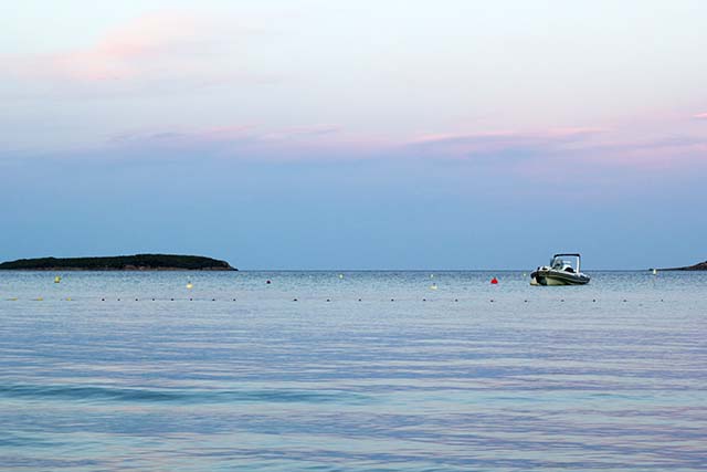
[[[394,141],[357,136],[333,124],[286,128],[244,124],[123,133],[112,136],[108,145],[271,160],[379,158],[400,162],[414,159],[458,161],[528,176],[547,174],[547,168],[569,172],[618,167],[648,169],[685,166],[707,159],[707,137],[632,136],[601,127],[437,133]]]

